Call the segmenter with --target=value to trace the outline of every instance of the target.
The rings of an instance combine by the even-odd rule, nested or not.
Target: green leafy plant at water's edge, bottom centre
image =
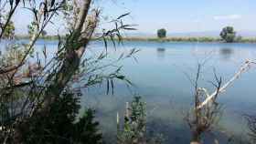
[[[118,144],[162,144],[165,138],[162,134],[146,134],[146,103],[141,97],[134,97],[129,105],[126,102],[126,111],[123,125],[119,123],[117,116],[117,143]]]

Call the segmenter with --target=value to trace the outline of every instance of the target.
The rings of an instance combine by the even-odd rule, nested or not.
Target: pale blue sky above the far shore
[[[125,21],[138,25],[138,33],[151,34],[162,27],[173,33],[219,31],[224,26],[256,31],[256,0],[97,0],[95,6],[109,19],[131,12]],[[17,33],[27,33],[28,15],[26,10],[16,14]],[[47,30],[50,34],[58,29]]]

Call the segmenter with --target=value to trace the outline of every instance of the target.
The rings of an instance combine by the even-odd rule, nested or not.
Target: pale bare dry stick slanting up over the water
[[[244,65],[242,65],[240,67],[240,70],[229,79],[229,81],[223,85],[222,87],[219,88],[219,90],[215,90],[211,95],[208,96],[208,98],[206,98],[199,106],[197,106],[197,109],[203,108],[204,106],[208,105],[208,103],[215,98],[217,93],[222,93],[225,91],[225,89],[227,87],[229,87],[236,79],[238,79],[242,73],[247,72],[250,68],[251,68],[251,64],[256,64],[255,61],[251,61],[251,60],[246,60],[246,62],[244,63]]]

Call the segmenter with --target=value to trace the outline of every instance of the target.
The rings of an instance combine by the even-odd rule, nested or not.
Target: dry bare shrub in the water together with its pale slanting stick
[[[187,124],[191,129],[192,139],[191,144],[200,144],[201,137],[208,131],[211,131],[213,126],[219,121],[221,109],[217,98],[219,94],[224,92],[242,73],[248,71],[251,65],[256,64],[254,61],[247,60],[239,69],[239,71],[229,79],[225,84],[222,84],[222,78],[217,77],[214,73],[216,83],[211,82],[215,87],[213,93],[208,93],[208,90],[203,87],[198,87],[198,79],[200,77],[201,65],[197,67],[197,77],[195,81],[194,106],[187,114]]]

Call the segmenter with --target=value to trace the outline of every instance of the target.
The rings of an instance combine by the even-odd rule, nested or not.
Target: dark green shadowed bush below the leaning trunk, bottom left
[[[47,115],[28,119],[28,128],[20,128],[20,137],[27,144],[101,144],[101,132],[99,123],[94,121],[94,111],[87,109],[77,120],[79,110],[80,97],[64,92],[51,104]]]

